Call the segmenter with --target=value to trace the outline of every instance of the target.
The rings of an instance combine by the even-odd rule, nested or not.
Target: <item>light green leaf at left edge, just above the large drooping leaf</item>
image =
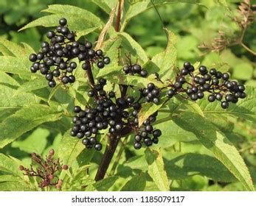
[[[31,93],[17,93],[15,94],[14,89],[4,85],[0,85],[0,110],[20,108],[27,104],[36,104],[39,100]]]

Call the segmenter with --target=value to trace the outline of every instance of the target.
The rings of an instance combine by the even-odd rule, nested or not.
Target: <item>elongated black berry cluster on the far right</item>
[[[227,73],[216,71],[215,68],[208,71],[204,65],[201,65],[196,73],[193,65],[186,62],[177,75],[176,82],[170,84],[167,96],[172,98],[177,93],[186,93],[191,100],[196,101],[204,98],[204,93],[207,92],[210,93],[209,102],[220,101],[221,107],[226,109],[230,102],[237,103],[239,98],[246,97],[244,90],[243,85],[230,81]]]

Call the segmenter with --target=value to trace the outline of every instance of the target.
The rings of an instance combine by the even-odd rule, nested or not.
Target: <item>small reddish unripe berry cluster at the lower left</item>
[[[31,154],[32,164],[37,165],[36,169],[32,167],[32,164],[30,166],[31,168],[24,168],[24,166],[19,166],[19,168],[21,171],[24,171],[24,175],[39,177],[41,179],[38,183],[39,188],[55,186],[55,188],[60,189],[63,181],[58,179],[58,174],[60,174],[62,170],[67,170],[69,166],[61,165],[59,158],[53,158],[54,154],[55,151],[51,149],[49,155],[46,156],[46,160],[44,160],[40,155],[33,152]]]

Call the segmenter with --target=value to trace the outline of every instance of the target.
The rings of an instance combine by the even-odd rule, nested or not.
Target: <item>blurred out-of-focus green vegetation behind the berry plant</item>
[[[238,0],[202,0],[201,4],[204,6],[198,4],[167,4],[158,7],[163,24],[178,37],[177,49],[179,65],[185,60],[191,63],[199,61],[205,65],[223,63],[225,66],[230,66],[229,72],[232,74],[232,78],[238,79],[245,85],[256,86],[256,56],[252,54],[252,52],[247,51],[241,45],[227,46],[222,51],[215,52],[199,49],[199,46],[203,43],[209,45],[214,38],[218,38],[219,30],[224,31],[230,39],[241,32],[241,28],[239,28],[238,24],[235,24],[235,21],[229,18],[229,15],[238,14],[236,10],[240,3],[241,1]],[[81,7],[99,15],[105,22],[108,21],[108,15],[89,0],[1,0],[0,37],[12,40],[15,43],[28,43],[35,51],[38,51],[40,46],[39,42],[45,38],[45,33],[48,29],[35,27],[21,32],[18,32],[18,29],[28,24],[30,21],[44,16],[45,14],[41,13],[41,10],[46,9],[49,4],[70,4]],[[139,42],[149,57],[153,57],[154,54],[165,49],[165,32],[162,29],[162,23],[156,14],[156,10],[153,8],[133,18],[131,22],[129,22],[126,32]],[[90,38],[97,40],[97,35],[96,33],[92,33]],[[252,49],[252,51],[256,51],[255,36],[256,21],[248,26],[243,37],[243,43],[248,46],[249,49]],[[228,65],[225,63],[228,63]],[[255,104],[255,102],[252,103]],[[218,122],[216,124],[220,123]],[[252,170],[252,176],[254,176],[253,179],[254,182],[256,182],[255,125],[247,121],[238,121],[236,118],[230,118],[229,122],[224,124],[230,124],[232,136],[229,138],[232,139],[232,142],[235,143],[240,150],[246,164],[249,166],[250,170]],[[23,135],[18,141],[27,138],[26,141],[31,143],[30,138],[32,139],[35,135],[41,138],[41,148],[37,146],[39,153],[58,145],[61,138],[61,135],[58,135],[58,133],[52,133],[52,131],[49,132],[47,129],[38,128]],[[52,137],[55,137],[55,141],[52,140]],[[1,149],[0,152],[11,154],[20,159],[29,160],[27,152],[32,151],[27,149],[26,141],[22,141],[22,143],[18,141]],[[33,146],[30,147],[33,148]],[[182,152],[193,152],[198,151],[198,149],[200,148],[197,146],[191,144],[187,144],[186,146],[186,143],[184,143]],[[96,155],[95,158],[100,157]],[[205,181],[207,180],[204,180],[203,177],[193,177],[192,179],[193,180],[187,182],[184,181],[184,188],[186,188],[187,184],[187,188],[190,189],[207,190],[207,188],[205,188]],[[218,190],[219,185],[213,186],[216,187],[215,190]],[[241,185],[227,185],[226,187],[226,190],[239,190]]]

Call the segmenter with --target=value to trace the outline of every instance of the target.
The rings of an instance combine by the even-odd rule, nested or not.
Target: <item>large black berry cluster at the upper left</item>
[[[47,32],[49,42],[41,43],[41,51],[38,54],[30,54],[30,61],[33,63],[30,71],[40,71],[49,81],[49,87],[56,85],[56,79],[63,84],[75,82],[73,71],[77,63],[73,61],[78,58],[83,61],[82,68],[88,70],[94,63],[98,68],[103,68],[110,63],[109,57],[103,56],[103,51],[94,51],[89,41],[79,43],[75,40],[75,32],[71,32],[67,26],[66,18],[60,18],[59,26],[55,31]]]

